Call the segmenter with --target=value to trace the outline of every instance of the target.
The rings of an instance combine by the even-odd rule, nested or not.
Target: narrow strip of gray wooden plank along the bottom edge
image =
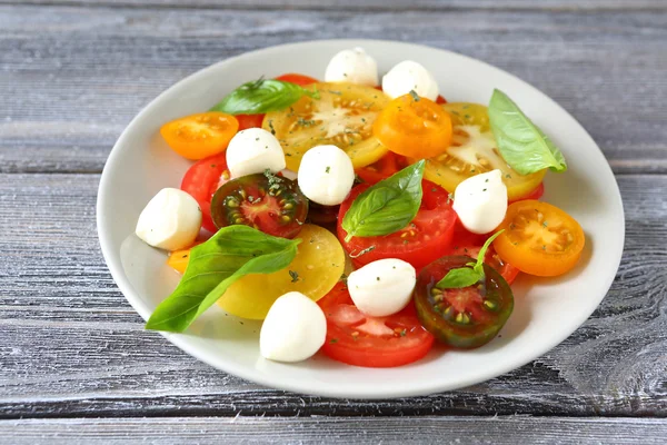
[[[14,445],[160,444],[664,444],[667,423],[643,418],[362,417],[26,419],[0,422]]]

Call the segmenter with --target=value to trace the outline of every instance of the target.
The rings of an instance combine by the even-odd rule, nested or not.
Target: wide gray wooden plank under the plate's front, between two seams
[[[283,393],[142,330],[99,251],[98,175],[0,175],[0,417],[625,415],[667,417],[667,176],[620,176],[626,250],[565,343],[464,390],[398,400]]]

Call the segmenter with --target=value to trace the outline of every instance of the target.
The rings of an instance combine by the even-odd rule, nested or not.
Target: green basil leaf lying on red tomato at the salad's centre
[[[422,159],[364,190],[342,218],[345,238],[394,234],[406,227],[421,205]]]

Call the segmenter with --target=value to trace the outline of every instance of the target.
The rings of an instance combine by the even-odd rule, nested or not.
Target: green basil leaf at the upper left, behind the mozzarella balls
[[[303,95],[319,99],[319,92],[307,90],[296,83],[275,79],[259,79],[241,85],[211,108],[228,115],[263,115],[283,110]]]

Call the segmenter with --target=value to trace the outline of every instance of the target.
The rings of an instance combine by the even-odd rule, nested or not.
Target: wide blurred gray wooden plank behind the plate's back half
[[[341,36],[499,66],[581,121],[615,171],[667,172],[661,12],[30,6],[0,6],[0,171],[99,172],[130,119],[185,76],[260,47]]]

